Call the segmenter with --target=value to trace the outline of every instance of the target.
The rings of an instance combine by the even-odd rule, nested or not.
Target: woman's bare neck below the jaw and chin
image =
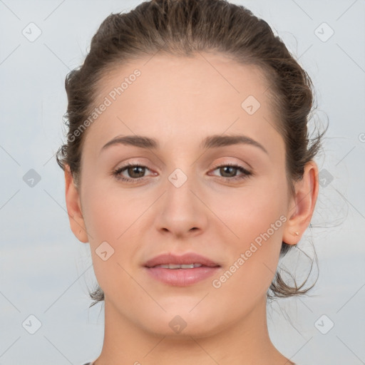
[[[239,322],[227,324],[215,334],[182,334],[168,336],[145,331],[106,300],[103,349],[95,365],[293,364],[269,339],[266,298]]]

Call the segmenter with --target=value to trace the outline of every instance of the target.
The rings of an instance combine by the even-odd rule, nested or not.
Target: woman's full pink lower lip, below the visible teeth
[[[195,267],[194,269],[165,269],[163,267],[145,267],[148,274],[165,284],[186,287],[217,273],[220,267]]]

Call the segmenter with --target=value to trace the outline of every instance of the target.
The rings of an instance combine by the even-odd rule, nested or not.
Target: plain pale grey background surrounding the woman
[[[81,365],[101,351],[103,308],[88,309],[96,283],[89,247],[69,227],[54,153],[65,139],[66,73],[108,14],[139,3],[0,1],[1,365]],[[314,242],[319,281],[309,297],[268,308],[272,341],[302,365],[365,364],[365,1],[235,3],[283,38],[316,87],[314,119],[329,123],[317,162],[333,180],[322,181],[314,227],[299,244]],[[34,42],[22,34],[31,22],[42,32]],[[315,33],[323,22],[334,30],[327,41]],[[41,176],[34,187],[23,180],[30,169]],[[36,326],[31,314],[41,322],[35,334],[22,326]]]

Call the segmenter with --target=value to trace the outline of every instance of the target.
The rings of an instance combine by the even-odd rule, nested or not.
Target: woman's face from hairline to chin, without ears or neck
[[[217,53],[155,55],[101,83],[81,160],[88,236],[78,237],[115,319],[212,334],[264,308],[292,208],[268,86],[258,68]],[[137,135],[155,145],[132,143]],[[127,164],[141,167],[113,175]],[[217,267],[145,267],[187,253]]]

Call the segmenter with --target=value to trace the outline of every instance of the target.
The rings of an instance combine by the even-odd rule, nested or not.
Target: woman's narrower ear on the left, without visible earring
[[[65,185],[66,206],[71,230],[79,241],[86,243],[88,242],[88,235],[81,211],[80,195],[68,165],[65,166]]]

